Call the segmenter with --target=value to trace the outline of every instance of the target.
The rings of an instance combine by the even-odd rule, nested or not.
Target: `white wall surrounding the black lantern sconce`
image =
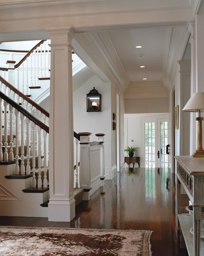
[[[102,95],[102,111],[87,112],[87,93],[93,86]],[[105,133],[105,172],[111,163],[111,84],[93,76],[73,93],[74,131],[90,132],[90,141],[96,141],[96,133]]]

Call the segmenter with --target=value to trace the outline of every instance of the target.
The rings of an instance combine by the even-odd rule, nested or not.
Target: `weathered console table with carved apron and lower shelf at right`
[[[177,213],[178,231],[182,230],[189,256],[204,256],[204,240],[201,239],[201,219],[204,219],[204,158],[176,156],[177,161]],[[193,206],[193,217],[180,214],[181,184]],[[190,233],[193,228],[194,234]]]

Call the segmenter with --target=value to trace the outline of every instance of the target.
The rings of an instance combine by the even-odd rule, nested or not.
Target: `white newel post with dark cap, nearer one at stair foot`
[[[89,145],[91,133],[78,133],[78,135],[80,136],[80,188],[84,192],[89,192],[91,190]]]

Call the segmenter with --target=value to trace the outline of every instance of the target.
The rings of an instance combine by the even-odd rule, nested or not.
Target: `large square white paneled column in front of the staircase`
[[[49,119],[49,221],[75,217],[72,46],[70,29],[49,30],[51,39]]]

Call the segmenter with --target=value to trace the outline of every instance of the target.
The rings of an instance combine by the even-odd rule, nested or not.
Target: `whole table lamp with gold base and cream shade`
[[[193,153],[192,157],[204,157],[204,150],[202,146],[203,117],[201,117],[201,112],[204,111],[204,92],[195,92],[182,110],[199,113],[199,117],[196,117],[196,120],[198,121],[198,143],[196,152]]]

